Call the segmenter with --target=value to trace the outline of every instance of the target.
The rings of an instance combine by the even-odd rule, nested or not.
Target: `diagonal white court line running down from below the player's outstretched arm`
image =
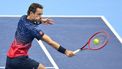
[[[52,56],[50,55],[50,53],[48,52],[48,50],[46,49],[46,47],[44,46],[44,44],[42,43],[42,41],[41,40],[39,40],[39,41],[37,40],[37,42],[39,43],[40,47],[45,52],[46,56],[48,57],[48,59],[50,60],[50,62],[54,66],[54,68],[55,69],[59,69],[58,65],[55,63],[55,61],[53,60]]]

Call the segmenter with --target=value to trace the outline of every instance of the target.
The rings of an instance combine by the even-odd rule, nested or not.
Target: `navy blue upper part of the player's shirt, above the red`
[[[40,32],[42,31],[41,29],[38,29],[38,24],[34,24],[32,21],[27,19],[26,15],[24,15],[18,22],[15,37],[24,43],[28,43],[34,38],[37,38],[38,40],[41,39],[42,35],[40,35]]]

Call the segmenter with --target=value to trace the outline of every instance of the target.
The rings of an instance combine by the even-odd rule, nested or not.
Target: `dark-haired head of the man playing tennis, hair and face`
[[[43,6],[38,3],[32,3],[28,8],[27,15],[32,19],[38,21],[43,14]]]

